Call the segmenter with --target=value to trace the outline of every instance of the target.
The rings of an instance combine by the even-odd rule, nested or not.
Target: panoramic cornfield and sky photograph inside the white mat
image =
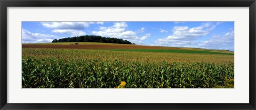
[[[22,22],[22,88],[234,88],[234,22]]]

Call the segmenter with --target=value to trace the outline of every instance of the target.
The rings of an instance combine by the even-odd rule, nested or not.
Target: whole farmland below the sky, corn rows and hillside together
[[[22,88],[234,88],[234,52],[78,43],[22,44]]]

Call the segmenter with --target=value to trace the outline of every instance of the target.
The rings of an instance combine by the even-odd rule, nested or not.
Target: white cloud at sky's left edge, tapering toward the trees
[[[60,39],[60,37],[50,34],[31,33],[25,29],[22,29],[22,43],[52,42],[53,39]]]

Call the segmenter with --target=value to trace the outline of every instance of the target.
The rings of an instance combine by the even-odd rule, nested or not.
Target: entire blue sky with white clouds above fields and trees
[[[139,45],[234,51],[234,22],[22,22],[22,43],[100,35]]]

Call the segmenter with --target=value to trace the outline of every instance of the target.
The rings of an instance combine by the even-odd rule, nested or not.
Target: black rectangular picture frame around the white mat
[[[0,108],[1,109],[256,109],[255,0],[0,0]],[[7,7],[249,7],[250,103],[248,104],[13,104],[7,102]],[[17,93],[19,94],[19,93]]]

